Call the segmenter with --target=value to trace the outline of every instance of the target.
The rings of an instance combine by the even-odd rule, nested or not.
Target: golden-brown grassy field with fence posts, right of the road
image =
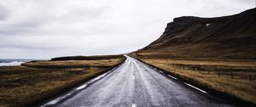
[[[137,58],[141,59],[137,56]],[[142,59],[201,87],[256,104],[256,61]]]

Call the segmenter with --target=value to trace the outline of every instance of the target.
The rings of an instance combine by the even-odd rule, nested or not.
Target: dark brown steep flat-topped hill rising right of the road
[[[148,58],[255,60],[256,8],[217,18],[175,18],[160,38],[135,53]]]

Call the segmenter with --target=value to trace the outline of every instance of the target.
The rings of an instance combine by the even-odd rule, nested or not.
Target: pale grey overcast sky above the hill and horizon
[[[217,17],[255,0],[0,0],[0,59],[126,53],[183,15]]]

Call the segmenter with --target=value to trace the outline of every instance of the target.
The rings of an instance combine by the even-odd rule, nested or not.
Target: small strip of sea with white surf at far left
[[[0,59],[0,66],[21,65],[35,59]]]

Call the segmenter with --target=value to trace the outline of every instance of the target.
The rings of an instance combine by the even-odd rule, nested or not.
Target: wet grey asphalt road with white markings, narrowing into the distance
[[[235,106],[126,56],[125,63],[73,91],[49,100],[52,107]]]

